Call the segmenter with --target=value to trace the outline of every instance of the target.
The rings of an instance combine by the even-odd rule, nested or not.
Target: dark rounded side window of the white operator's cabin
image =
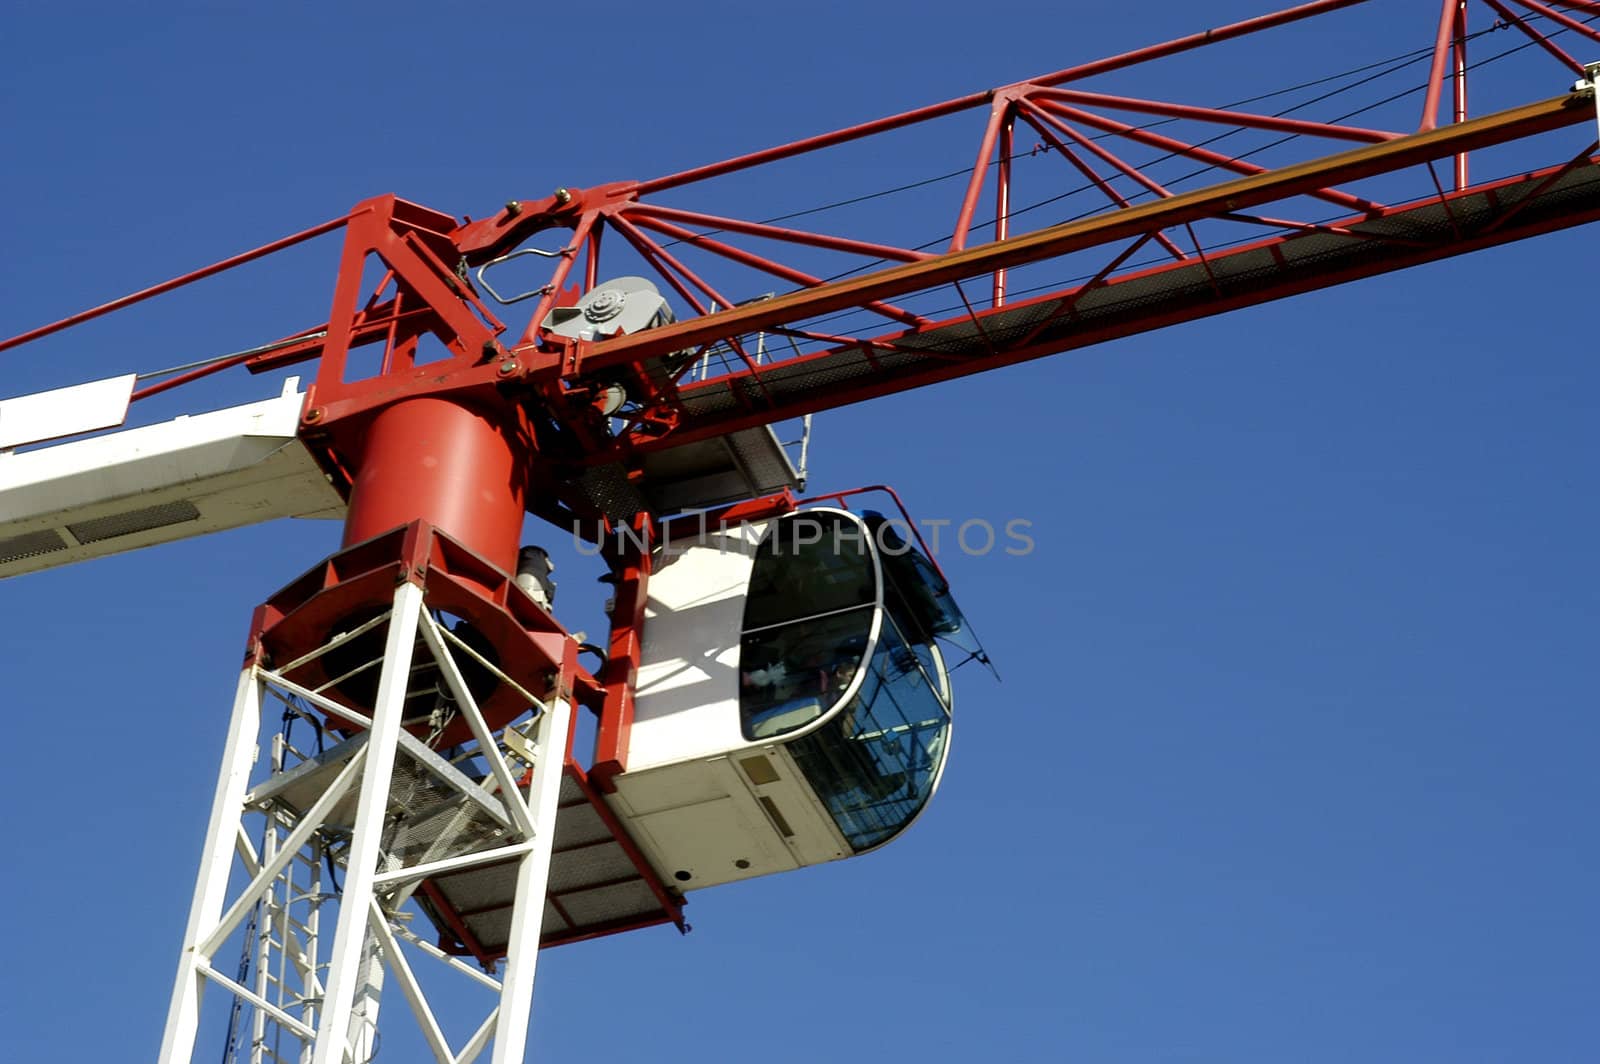
[[[739,723],[771,739],[830,710],[872,634],[877,578],[861,526],[840,514],[779,518],[757,547],[739,646]]]

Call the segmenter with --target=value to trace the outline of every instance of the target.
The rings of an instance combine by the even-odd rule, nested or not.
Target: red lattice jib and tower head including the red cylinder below
[[[1584,224],[1600,213],[1592,136],[1546,136],[1594,123],[1592,75],[1563,48],[1576,37],[1600,43],[1600,32],[1587,22],[1600,16],[1592,0],[1562,0],[1558,6],[1573,14],[1526,3],[1530,10],[1518,14],[1493,5],[1494,26],[1518,30],[1523,50],[1546,64],[1539,85],[1571,83],[1574,74],[1578,85],[1568,94],[1482,117],[1467,117],[1467,46],[1475,37],[1467,32],[1469,5],[1459,0],[1442,3],[1430,46],[1416,53],[1429,64],[1421,115],[1397,114],[1414,106],[1403,101],[1365,115],[1390,128],[1291,117],[1296,107],[1254,114],[1086,86],[1098,75],[1288,32],[1307,19],[1347,18],[1354,14],[1347,10],[1360,6],[1363,0],[1315,0],[664,178],[514,200],[478,221],[376,197],[344,218],[34,330],[0,349],[342,229],[325,325],[178,374],[136,397],[229,365],[264,371],[317,358],[302,437],[350,493],[346,542],[410,512],[506,565],[523,510],[587,531],[651,510],[650,493],[638,486],[650,477],[651,456],[661,453]],[[1562,34],[1568,37],[1557,40]],[[1392,48],[1392,40],[1378,43]],[[987,110],[987,118],[954,232],[939,246],[901,246],[893,238],[845,237],[690,206],[707,182],[730,174],[749,179],[752,171],[818,152],[875,146],[968,110]],[[1130,115],[1155,122],[1133,125],[1125,120]],[[1270,166],[1251,162],[1259,149],[1229,155],[1208,147],[1219,138],[1186,133],[1195,126],[1278,136],[1267,147],[1291,142],[1282,149],[1290,154],[1272,157]],[[1019,150],[1018,136],[1037,138],[1030,152]],[[1520,158],[1499,176],[1469,181],[1469,155],[1502,146],[1517,146]],[[1154,162],[1146,158],[1150,152]],[[1040,154],[1058,184],[1062,174],[1085,179],[1078,190],[1101,197],[1104,208],[1064,222],[1034,222],[1042,216],[1018,208],[1013,192],[1021,160]],[[1226,179],[1213,176],[1210,184],[1174,192],[1157,179],[1165,160],[1200,163]],[[1435,163],[1446,163],[1443,179]],[[979,208],[992,208],[992,221],[978,222]],[[1027,232],[1024,214],[1035,226]],[[486,302],[494,291],[483,270],[531,253],[518,248],[552,232],[560,246],[538,254],[554,269],[528,293],[536,299],[526,326],[509,336]],[[1226,232],[1248,235],[1218,238]],[[624,246],[629,269],[643,262],[653,272],[680,320],[629,333],[608,333],[603,325],[576,334],[547,328],[552,310],[574,306],[602,285],[605,234],[608,245]],[[363,286],[373,267],[379,280]],[[776,280],[782,291],[726,294],[733,283],[741,285],[741,296],[749,293],[750,277],[763,285]],[[406,456],[406,440],[424,430],[451,440],[445,466],[422,466],[419,453]],[[384,461],[374,464],[378,454]],[[483,502],[488,496],[493,504]]]

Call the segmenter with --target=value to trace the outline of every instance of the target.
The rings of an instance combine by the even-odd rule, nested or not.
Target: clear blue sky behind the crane
[[[1269,5],[1195,6],[34,5],[0,16],[0,334],[368,195],[480,216]],[[1373,6],[1142,88],[1226,102],[1427,42],[1432,5]],[[725,210],[942,173],[922,147],[730,181]],[[547,952],[531,1053],[1594,1059],[1590,243],[819,416],[818,490],[1032,522],[1026,557],[941,555],[1005,680],[958,675],[944,784],[893,846],[694,894],[688,938]],[[330,285],[323,245],[6,352],[0,394],[246,347],[322,320]],[[152,414],[275,390],[229,378]],[[336,538],[266,526],[0,587],[8,1059],[154,1054],[250,613]],[[592,626],[590,574],[557,576]]]

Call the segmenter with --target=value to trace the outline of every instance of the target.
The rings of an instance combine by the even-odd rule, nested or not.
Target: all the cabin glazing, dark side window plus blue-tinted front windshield
[[[790,514],[757,549],[739,658],[744,738],[786,744],[856,853],[888,842],[933,795],[950,730],[938,640],[962,627],[933,563],[875,514]]]

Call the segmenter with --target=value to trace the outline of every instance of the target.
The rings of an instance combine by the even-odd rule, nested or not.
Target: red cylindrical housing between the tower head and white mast
[[[512,421],[446,398],[408,398],[366,429],[344,546],[424,520],[517,571],[531,445]]]

